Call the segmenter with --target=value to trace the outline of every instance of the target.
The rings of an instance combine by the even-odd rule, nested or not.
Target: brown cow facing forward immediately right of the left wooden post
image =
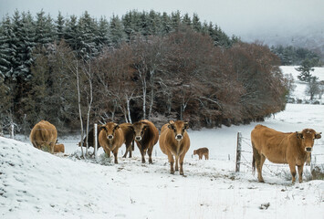
[[[124,142],[124,134],[118,124],[108,122],[107,124],[100,126],[99,144],[108,157],[110,157],[110,151],[112,151],[115,157],[115,163],[118,163],[118,150]]]

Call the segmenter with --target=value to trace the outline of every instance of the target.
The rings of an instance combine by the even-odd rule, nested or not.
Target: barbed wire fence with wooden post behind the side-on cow
[[[322,143],[315,143],[314,146],[324,146]],[[241,132],[237,132],[235,172],[252,172],[252,151],[251,139],[243,137]],[[319,159],[321,158],[321,159]],[[324,153],[312,153],[310,170],[316,165],[324,165]],[[267,175],[281,175],[283,172],[290,172],[288,164],[271,163],[266,160],[262,169]]]

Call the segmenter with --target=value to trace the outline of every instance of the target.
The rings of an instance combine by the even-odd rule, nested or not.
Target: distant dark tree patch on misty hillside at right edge
[[[304,60],[309,60],[314,67],[323,65],[323,61],[319,55],[307,48],[302,47],[271,47],[271,51],[280,58],[281,65],[283,66],[300,66]]]

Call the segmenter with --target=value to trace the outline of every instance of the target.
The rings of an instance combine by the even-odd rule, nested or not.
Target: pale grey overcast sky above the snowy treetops
[[[202,21],[212,21],[227,35],[256,36],[258,32],[289,35],[308,26],[324,26],[324,0],[0,0],[0,16],[11,16],[18,9],[36,15],[41,9],[53,17],[113,14],[127,11],[167,12],[179,10]],[[315,24],[315,25],[314,25]]]

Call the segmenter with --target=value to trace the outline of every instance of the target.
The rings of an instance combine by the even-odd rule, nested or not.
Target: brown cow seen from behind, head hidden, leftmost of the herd
[[[46,120],[39,121],[31,130],[29,139],[35,148],[54,153],[57,142],[57,129]]]

